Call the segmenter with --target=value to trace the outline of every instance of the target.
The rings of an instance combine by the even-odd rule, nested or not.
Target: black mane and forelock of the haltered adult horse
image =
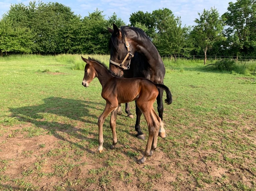
[[[127,37],[127,31],[126,30],[132,30],[136,33],[136,35],[142,39],[145,40],[149,40],[148,36],[146,35],[146,33],[138,28],[138,27],[129,27],[129,26],[121,26],[120,30],[121,30],[121,34],[122,34],[122,39],[124,40],[124,37]],[[113,47],[111,46],[113,45]],[[109,50],[111,50],[111,47],[114,48],[115,50],[118,50],[118,43],[117,43],[117,38],[114,35],[111,35],[110,41],[109,41]]]

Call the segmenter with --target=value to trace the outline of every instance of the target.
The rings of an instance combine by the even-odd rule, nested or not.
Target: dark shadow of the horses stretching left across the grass
[[[24,107],[13,107],[9,108],[11,112],[11,117],[16,117],[20,122],[32,123],[36,127],[46,129],[50,134],[55,136],[60,140],[67,141],[71,144],[78,146],[76,142],[68,140],[65,136],[61,135],[59,132],[67,133],[69,135],[75,136],[75,138],[80,140],[88,140],[88,142],[93,142],[98,145],[98,133],[94,133],[93,128],[98,129],[97,121],[98,116],[94,113],[101,114],[105,103],[104,102],[92,102],[85,100],[69,99],[62,97],[48,97],[42,99],[43,103],[39,105],[30,105]],[[95,107],[97,105],[97,107]],[[96,110],[96,111],[95,111]],[[98,110],[98,111],[97,111]],[[77,120],[86,125],[93,126],[92,131],[89,132],[92,136],[84,135],[83,128],[75,126],[70,121],[51,121],[51,119],[46,120],[47,113],[63,116],[71,120]],[[85,116],[87,116],[85,119]],[[119,124],[120,121],[118,122]],[[77,132],[77,133],[75,133]],[[104,135],[105,138],[111,139]],[[106,146],[109,146],[108,144]],[[79,145],[80,149],[87,151],[88,153],[94,154],[95,152],[89,148]]]

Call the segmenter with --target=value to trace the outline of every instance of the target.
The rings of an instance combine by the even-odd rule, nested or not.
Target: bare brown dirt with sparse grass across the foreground
[[[225,122],[236,123],[229,119]],[[237,123],[242,131],[255,131],[251,125]],[[253,167],[255,150],[245,148],[247,151],[241,151],[244,154],[239,155],[235,150],[234,153],[233,150],[223,152],[226,146],[223,145],[224,137],[200,140],[209,133],[207,129],[198,130],[198,135],[193,138],[178,140],[170,138],[170,129],[166,127],[169,136],[165,139],[158,137],[158,147],[153,156],[139,165],[136,161],[142,157],[146,141],[135,138],[132,127],[127,137],[122,137],[129,141],[118,142],[113,150],[109,149],[111,137],[104,135],[104,150],[98,153],[97,129],[84,135],[80,129],[81,122],[73,129],[58,129],[50,133],[45,128],[39,136],[28,137],[22,129],[32,125],[1,127],[5,128],[0,137],[1,189],[188,191],[227,189],[227,185],[234,190],[239,190],[237,185],[255,186],[252,181],[256,176]],[[192,128],[194,125],[189,126]],[[187,128],[180,127],[181,131]],[[219,133],[217,129],[210,131]],[[251,133],[251,137],[236,133],[236,138],[241,138],[241,146],[248,145],[248,142],[252,147],[255,145],[255,132]],[[173,146],[165,147],[167,141]]]

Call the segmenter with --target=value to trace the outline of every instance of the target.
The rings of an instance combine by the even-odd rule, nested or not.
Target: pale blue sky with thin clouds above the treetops
[[[0,18],[7,13],[11,4],[28,3],[33,0],[0,0]],[[220,16],[227,12],[229,2],[236,0],[41,0],[44,3],[58,2],[71,8],[76,15],[82,18],[93,13],[97,8],[103,11],[105,19],[108,19],[115,12],[118,18],[121,18],[126,24],[132,13],[143,11],[144,13],[152,13],[154,10],[168,8],[175,17],[180,17],[182,26],[195,25],[194,20],[199,18],[198,13],[202,13],[204,9],[210,10],[214,7],[218,10]],[[38,2],[38,0],[36,0]]]

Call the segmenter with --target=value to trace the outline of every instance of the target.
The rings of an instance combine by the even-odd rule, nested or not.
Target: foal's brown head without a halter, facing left
[[[82,60],[87,63],[85,65],[85,75],[84,75],[84,78],[83,78],[82,85],[84,87],[88,87],[89,84],[92,82],[92,80],[96,77],[95,69],[92,66],[92,62],[94,62],[94,61],[91,61],[90,57],[88,59],[82,57]]]

